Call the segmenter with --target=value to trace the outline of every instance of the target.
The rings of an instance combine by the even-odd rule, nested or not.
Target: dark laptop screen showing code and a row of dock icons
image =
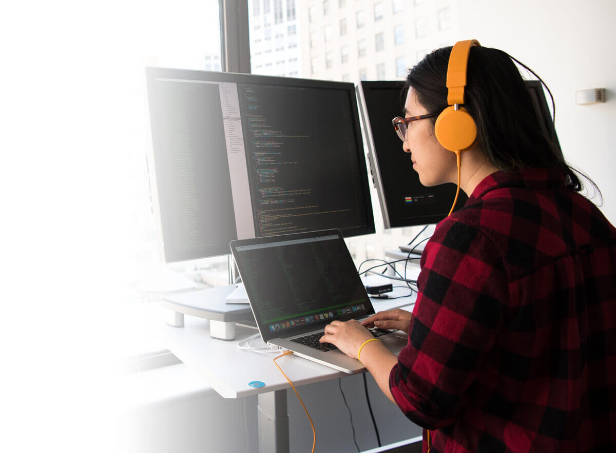
[[[262,332],[318,328],[373,312],[342,238],[282,238],[234,251]]]

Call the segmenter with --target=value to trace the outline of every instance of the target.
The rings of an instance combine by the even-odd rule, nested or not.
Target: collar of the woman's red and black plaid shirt
[[[564,187],[565,175],[560,167],[524,168],[521,171],[496,171],[486,176],[470,198],[479,199],[487,192],[500,187],[528,187],[529,189],[557,189]]]

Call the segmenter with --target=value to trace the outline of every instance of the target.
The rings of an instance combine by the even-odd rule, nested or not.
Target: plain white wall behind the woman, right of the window
[[[505,50],[548,84],[565,159],[599,186],[616,224],[616,2],[458,0],[456,9],[457,39]],[[590,88],[605,88],[607,102],[576,105],[575,92]]]

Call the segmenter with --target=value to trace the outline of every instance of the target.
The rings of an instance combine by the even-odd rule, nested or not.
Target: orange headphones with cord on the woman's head
[[[468,56],[471,47],[479,46],[479,41],[469,39],[468,41],[458,41],[453,46],[447,66],[447,107],[436,119],[434,133],[436,140],[443,148],[456,153],[458,163],[458,190],[453,200],[452,214],[460,194],[460,157],[463,151],[472,148],[477,142],[477,125],[469,112],[461,107],[464,104],[464,87],[466,87],[466,67],[468,66]]]

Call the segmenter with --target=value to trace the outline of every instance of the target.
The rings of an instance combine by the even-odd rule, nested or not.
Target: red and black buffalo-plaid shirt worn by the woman
[[[432,451],[616,451],[616,229],[561,171],[485,178],[421,267],[389,387]]]

